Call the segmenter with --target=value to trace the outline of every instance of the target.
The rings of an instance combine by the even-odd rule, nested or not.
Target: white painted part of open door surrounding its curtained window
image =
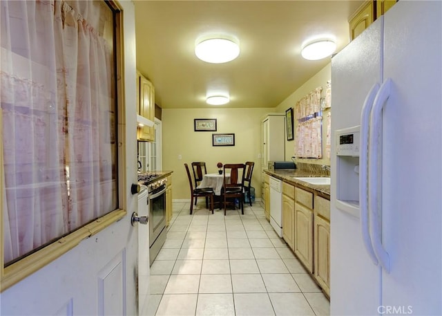
[[[125,138],[119,161],[126,180],[120,179],[120,201],[126,216],[81,241],[44,268],[1,292],[1,315],[137,315],[137,226],[131,214],[137,208],[135,12],[131,1],[119,1],[124,10],[124,91],[126,122],[119,124]]]

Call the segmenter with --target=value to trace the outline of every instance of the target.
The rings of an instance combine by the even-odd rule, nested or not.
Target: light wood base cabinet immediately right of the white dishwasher
[[[282,238],[291,250],[295,247],[295,187],[282,183]]]

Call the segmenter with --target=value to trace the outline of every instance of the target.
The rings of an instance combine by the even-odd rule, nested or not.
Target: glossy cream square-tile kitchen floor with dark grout
[[[202,201],[201,201],[202,202]],[[329,315],[329,301],[255,202],[238,210],[173,203],[142,315]]]

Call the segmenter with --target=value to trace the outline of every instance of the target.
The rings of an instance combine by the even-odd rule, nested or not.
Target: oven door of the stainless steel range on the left
[[[149,198],[149,228],[151,247],[166,227],[166,185],[158,192],[148,195]],[[156,256],[155,256],[156,257]]]

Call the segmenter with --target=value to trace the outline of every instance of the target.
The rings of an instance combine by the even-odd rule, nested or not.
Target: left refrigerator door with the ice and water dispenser
[[[382,17],[332,58],[332,135],[360,124],[365,97],[382,82]],[[335,152],[332,142],[332,153]],[[336,207],[337,159],[332,155],[330,312],[376,315],[381,304],[381,268],[365,250],[358,216]],[[356,214],[357,215],[357,214]]]

